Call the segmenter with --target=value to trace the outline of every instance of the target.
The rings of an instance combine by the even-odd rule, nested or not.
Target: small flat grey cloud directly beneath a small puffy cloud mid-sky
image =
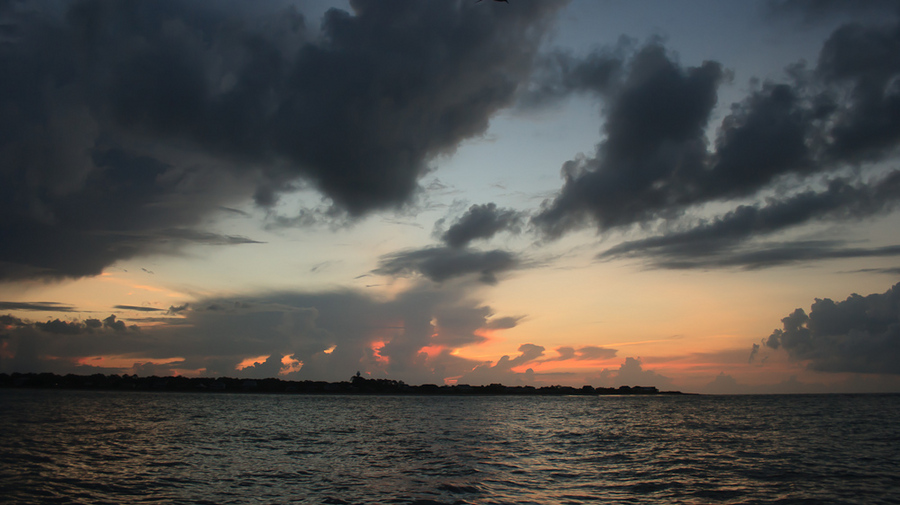
[[[501,250],[429,247],[382,256],[378,268],[372,272],[392,276],[420,274],[434,282],[475,274],[485,284],[496,284],[498,274],[519,264],[514,254]]]

